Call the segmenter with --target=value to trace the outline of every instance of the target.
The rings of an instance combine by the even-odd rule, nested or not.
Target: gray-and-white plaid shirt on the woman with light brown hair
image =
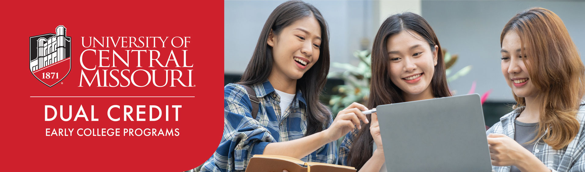
[[[585,101],[581,101],[579,112],[577,113],[577,120],[580,122],[580,129],[577,136],[560,150],[552,149],[548,144],[542,141],[542,136],[536,142],[534,149],[531,151],[539,160],[541,160],[546,167],[553,172],[559,171],[585,171]],[[514,139],[514,122],[516,117],[520,115],[523,107],[516,108],[511,113],[500,118],[500,122],[495,123],[493,127],[486,131],[486,134],[504,134]],[[511,166],[497,167],[492,166],[493,171],[508,172]]]

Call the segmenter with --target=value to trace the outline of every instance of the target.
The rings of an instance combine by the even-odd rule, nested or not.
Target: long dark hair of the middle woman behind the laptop
[[[420,34],[424,40],[429,43],[432,51],[437,52],[437,65],[435,65],[435,74],[431,80],[431,89],[435,97],[451,96],[449,87],[447,86],[447,79],[445,76],[445,62],[443,62],[443,53],[441,52],[441,45],[435,35],[432,27],[421,16],[405,12],[393,15],[384,20],[380,26],[380,30],[376,34],[373,47],[371,48],[371,84],[370,97],[367,102],[368,108],[375,108],[378,105],[401,103],[404,102],[402,97],[402,90],[398,88],[390,80],[390,71],[388,64],[390,58],[388,57],[388,50],[386,44],[388,37],[393,34],[398,34],[401,31],[415,31]],[[439,48],[435,50],[435,45]],[[371,121],[371,116],[367,115],[368,120]],[[363,165],[372,156],[372,146],[374,139],[370,134],[370,124],[362,124],[357,137],[353,140],[352,148],[349,150],[347,163],[349,166],[362,169]],[[390,145],[391,146],[391,145]]]

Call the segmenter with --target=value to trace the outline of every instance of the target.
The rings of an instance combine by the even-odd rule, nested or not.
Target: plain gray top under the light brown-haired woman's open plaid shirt
[[[516,120],[514,124],[514,141],[520,143],[522,147],[532,152],[532,149],[534,149],[534,143],[528,142],[536,137],[536,129],[538,129],[538,122],[524,123]],[[516,166],[512,166],[510,172],[520,172],[520,170]]]

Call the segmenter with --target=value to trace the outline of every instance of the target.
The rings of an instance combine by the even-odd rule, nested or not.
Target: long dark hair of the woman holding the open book
[[[302,1],[287,1],[278,5],[270,13],[258,38],[252,59],[242,74],[240,85],[257,85],[263,83],[270,76],[274,59],[272,47],[266,43],[270,30],[279,34],[285,27],[304,17],[315,17],[321,26],[321,47],[319,59],[305,74],[297,80],[297,90],[307,102],[307,134],[321,132],[331,118],[329,109],[319,101],[319,96],[325,87],[329,72],[329,33],[327,23],[315,6]]]

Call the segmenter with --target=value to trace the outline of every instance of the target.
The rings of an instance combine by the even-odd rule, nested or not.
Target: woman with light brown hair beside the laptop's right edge
[[[500,45],[517,105],[486,132],[494,171],[585,171],[585,67],[565,24],[550,10],[524,10]]]

